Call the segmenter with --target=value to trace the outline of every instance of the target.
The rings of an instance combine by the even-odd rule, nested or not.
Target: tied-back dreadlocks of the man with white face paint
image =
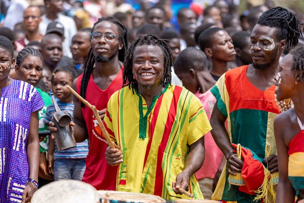
[[[278,40],[286,39],[287,47],[295,46],[302,35],[296,15],[282,7],[275,7],[263,13],[257,24],[277,28]]]

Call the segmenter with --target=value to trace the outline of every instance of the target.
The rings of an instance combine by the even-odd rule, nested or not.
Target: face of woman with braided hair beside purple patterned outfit
[[[36,86],[42,76],[42,61],[37,56],[29,55],[21,63],[20,67],[16,66],[15,70],[19,80],[30,83]]]

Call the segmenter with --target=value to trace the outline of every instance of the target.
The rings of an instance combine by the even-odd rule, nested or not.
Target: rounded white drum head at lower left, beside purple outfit
[[[31,203],[97,203],[96,189],[78,180],[59,180],[38,189]]]

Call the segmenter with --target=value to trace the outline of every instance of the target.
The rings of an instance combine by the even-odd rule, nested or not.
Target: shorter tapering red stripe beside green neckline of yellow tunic
[[[152,140],[153,140],[153,135],[154,135],[154,130],[155,130],[155,125],[156,125],[156,121],[158,119],[158,116],[159,116],[159,112],[160,112],[160,108],[161,108],[161,104],[162,104],[162,100],[163,100],[163,97],[164,97],[164,94],[162,94],[157,103],[155,104],[155,110],[153,112],[153,117],[152,117],[152,121],[149,125],[149,134],[150,134],[150,137],[149,137],[149,142],[147,144],[147,149],[146,149],[146,153],[145,153],[145,156],[144,156],[144,162],[143,162],[143,168],[142,170],[144,169],[145,167],[145,164],[146,164],[146,161],[147,161],[147,158],[148,158],[148,155],[149,155],[149,152],[150,152],[150,149],[151,149],[151,143],[152,143]],[[152,114],[150,114],[151,116]],[[148,119],[150,119],[150,116]]]

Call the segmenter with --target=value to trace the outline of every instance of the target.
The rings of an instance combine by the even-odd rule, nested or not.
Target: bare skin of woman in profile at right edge
[[[288,162],[289,162],[289,144],[291,140],[300,132],[297,122],[298,117],[301,122],[304,121],[304,110],[302,108],[302,99],[304,99],[304,85],[299,80],[299,72],[291,70],[293,66],[293,57],[286,55],[279,66],[281,81],[277,81],[279,89],[276,91],[277,99],[292,99],[294,108],[282,114],[279,114],[274,121],[274,133],[278,148],[278,167],[279,167],[279,184],[277,187],[278,203],[289,203],[294,201],[295,190],[288,179]],[[295,84],[297,82],[298,84]],[[299,201],[300,202],[300,201]]]

